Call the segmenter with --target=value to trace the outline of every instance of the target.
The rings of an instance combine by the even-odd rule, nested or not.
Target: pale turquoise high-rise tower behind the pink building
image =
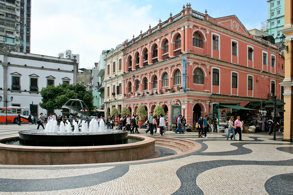
[[[261,23],[261,30],[272,35],[275,42],[280,42],[281,32],[285,24],[284,0],[268,0],[268,20]]]

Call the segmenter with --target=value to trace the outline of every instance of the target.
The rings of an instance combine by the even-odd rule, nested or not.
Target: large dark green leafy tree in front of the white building
[[[48,85],[42,87],[41,90],[42,102],[40,106],[46,110],[61,109],[61,107],[70,99],[80,99],[88,106],[89,109],[93,109],[93,93],[86,90],[86,86],[83,84],[71,84],[66,82],[57,86]]]

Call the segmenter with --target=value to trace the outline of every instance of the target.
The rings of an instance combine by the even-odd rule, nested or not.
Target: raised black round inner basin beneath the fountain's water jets
[[[128,131],[115,133],[32,133],[20,131],[19,142],[23,146],[103,146],[127,144]]]

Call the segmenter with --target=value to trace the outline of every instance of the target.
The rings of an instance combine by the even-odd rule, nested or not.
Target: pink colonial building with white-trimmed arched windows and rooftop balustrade
[[[244,106],[271,95],[282,98],[284,57],[275,44],[249,34],[235,15],[212,18],[189,4],[123,44],[123,106],[132,113],[139,104],[148,113],[160,104],[170,122],[171,105],[178,104],[193,124],[199,115],[215,113],[219,102]]]

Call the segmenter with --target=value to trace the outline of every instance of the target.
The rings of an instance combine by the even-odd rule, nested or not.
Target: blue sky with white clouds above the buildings
[[[114,48],[176,15],[186,1],[32,0],[31,53],[57,56],[71,49],[80,68],[92,67],[103,49]],[[268,19],[265,0],[188,1],[191,8],[213,18],[236,15],[247,30]]]

